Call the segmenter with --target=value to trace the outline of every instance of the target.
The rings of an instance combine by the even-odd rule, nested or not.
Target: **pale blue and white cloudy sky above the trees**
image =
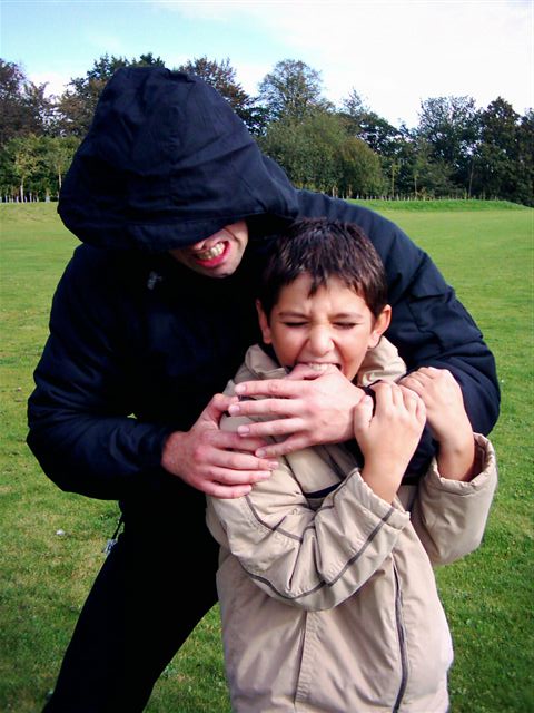
[[[150,51],[169,68],[228,58],[253,96],[301,60],[336,106],[355,89],[395,126],[431,97],[534,107],[534,0],[0,0],[0,57],[50,92],[101,55]]]

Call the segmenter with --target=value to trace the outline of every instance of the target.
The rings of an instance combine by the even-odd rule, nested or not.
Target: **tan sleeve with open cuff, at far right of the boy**
[[[441,478],[436,461],[418,485],[412,524],[431,561],[446,565],[475,550],[482,541],[497,466],[492,445],[476,436],[479,472],[469,482]]]

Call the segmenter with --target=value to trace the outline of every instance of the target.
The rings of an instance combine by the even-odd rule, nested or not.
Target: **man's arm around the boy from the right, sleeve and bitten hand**
[[[488,433],[500,407],[493,354],[428,255],[397,226],[372,211],[308,192],[299,192],[299,203],[301,217],[326,215],[350,221],[367,233],[384,262],[388,280],[393,314],[387,338],[398,348],[408,371],[423,365],[448,369],[462,387],[473,429]],[[298,377],[306,381],[295,383]],[[347,383],[336,382],[329,375],[313,380],[313,374],[301,371],[281,382],[247,382],[240,388],[243,395],[268,397],[244,401],[241,414],[275,419],[270,424],[251,424],[249,436],[293,434],[287,441],[265,449],[264,455],[270,457],[291,452],[297,447],[346,440],[359,398]],[[426,438],[424,452],[418,452],[416,459],[425,465],[431,456],[432,445]]]

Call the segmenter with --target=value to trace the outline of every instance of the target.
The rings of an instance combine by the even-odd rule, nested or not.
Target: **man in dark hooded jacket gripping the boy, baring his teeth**
[[[28,443],[62,489],[119,500],[125,530],[46,710],[131,713],[216,602],[204,492],[238,497],[268,477],[273,457],[344,440],[359,398],[336,370],[314,378],[304,368],[278,391],[254,387],[271,397],[263,401],[271,424],[248,437],[218,430],[229,403],[218,392],[258,340],[256,275],[269,235],[303,216],[358,224],[384,261],[387,336],[408,369],[449,369],[482,433],[496,421],[498,387],[479,331],[429,257],[377,214],[296,191],[196,77],[119,70],[59,213],[82,245],[53,299]],[[271,432],[286,440],[265,450]],[[429,452],[423,443],[419,466]]]

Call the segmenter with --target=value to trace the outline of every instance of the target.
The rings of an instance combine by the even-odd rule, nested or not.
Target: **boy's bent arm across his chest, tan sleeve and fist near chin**
[[[386,403],[385,394],[392,390],[395,399]],[[377,419],[369,397],[358,407],[356,437],[362,437],[370,465],[362,476],[356,469],[349,472],[317,510],[298,478],[306,480],[307,472],[317,476],[326,470],[333,487],[337,485],[332,452],[322,456],[320,448],[288,456],[269,480],[257,484],[244,498],[210,498],[208,524],[214,515],[218,520],[214,526],[211,519],[211,531],[224,530],[227,541],[220,537],[219,541],[269,596],[306,609],[332,608],[364,585],[392,551],[409,516],[390,501],[423,426],[419,419],[400,439],[404,422],[384,449],[386,431],[397,421],[398,408],[392,401],[398,401],[400,392],[396,385],[379,385]],[[386,410],[387,414],[382,413]],[[237,428],[244,420],[231,421]],[[384,458],[370,458],[375,447],[385,451]]]

